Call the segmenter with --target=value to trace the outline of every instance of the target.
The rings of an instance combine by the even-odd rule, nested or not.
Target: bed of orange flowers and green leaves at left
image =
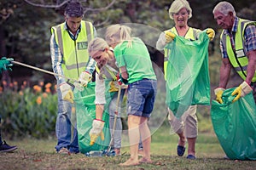
[[[12,88],[0,94],[2,130],[9,137],[49,137],[55,132],[57,95],[45,92],[42,87],[23,88],[19,92]],[[46,93],[47,91],[47,93]]]

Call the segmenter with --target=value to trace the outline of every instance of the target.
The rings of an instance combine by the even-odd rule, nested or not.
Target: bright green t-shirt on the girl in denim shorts
[[[118,67],[126,67],[128,83],[144,78],[156,80],[148,48],[140,38],[133,37],[131,47],[128,47],[128,41],[119,43],[113,49],[113,54]]]

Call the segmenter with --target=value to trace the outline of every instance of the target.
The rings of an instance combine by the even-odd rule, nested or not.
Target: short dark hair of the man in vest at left
[[[84,8],[78,1],[71,1],[67,4],[64,14],[66,17],[83,17]]]

